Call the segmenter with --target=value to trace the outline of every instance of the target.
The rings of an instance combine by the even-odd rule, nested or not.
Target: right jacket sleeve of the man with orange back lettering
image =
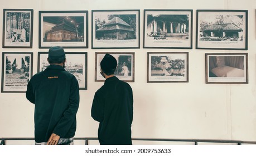
[[[71,87],[70,87],[70,97],[69,97],[69,106],[64,111],[61,119],[57,123],[54,128],[53,133],[60,136],[60,138],[64,138],[67,132],[69,131],[71,125],[76,120],[76,113],[79,108],[79,85],[75,76],[72,79]]]

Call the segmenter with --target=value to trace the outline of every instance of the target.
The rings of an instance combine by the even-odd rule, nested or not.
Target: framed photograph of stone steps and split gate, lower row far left
[[[2,53],[1,92],[26,92],[32,77],[33,52]]]

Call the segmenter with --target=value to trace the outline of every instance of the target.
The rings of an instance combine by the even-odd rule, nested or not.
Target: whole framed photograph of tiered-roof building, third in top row
[[[92,48],[139,48],[139,10],[93,10]]]

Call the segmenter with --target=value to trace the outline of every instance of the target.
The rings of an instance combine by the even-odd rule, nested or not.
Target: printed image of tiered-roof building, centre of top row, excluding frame
[[[123,19],[122,19],[123,18]],[[136,39],[136,15],[108,15],[106,19],[95,19],[96,40],[134,40]]]

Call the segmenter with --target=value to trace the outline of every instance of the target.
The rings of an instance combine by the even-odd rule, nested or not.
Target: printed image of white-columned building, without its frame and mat
[[[188,14],[147,15],[146,34],[153,40],[189,40],[189,31]]]

